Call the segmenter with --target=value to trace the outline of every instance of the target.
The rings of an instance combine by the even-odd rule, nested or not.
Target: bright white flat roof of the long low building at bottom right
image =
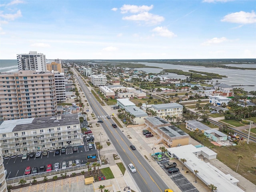
[[[233,183],[238,182],[236,178],[230,174],[224,174],[210,163],[202,161],[194,153],[200,152],[200,148],[196,148],[193,145],[184,145],[179,147],[172,147],[167,149],[168,152],[174,154],[178,159],[184,158],[187,161],[184,162],[186,167],[194,172],[198,170],[197,176],[206,184],[214,184],[217,187],[218,192],[243,192],[238,186]],[[202,150],[205,150],[204,148]],[[209,174],[210,173],[210,174]]]

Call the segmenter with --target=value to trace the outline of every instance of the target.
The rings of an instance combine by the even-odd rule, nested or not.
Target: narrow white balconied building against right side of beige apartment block
[[[56,100],[58,103],[66,101],[66,87],[65,87],[65,74],[54,73]]]

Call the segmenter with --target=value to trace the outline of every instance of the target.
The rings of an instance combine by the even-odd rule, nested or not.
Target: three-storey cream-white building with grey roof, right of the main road
[[[166,116],[181,117],[183,106],[178,103],[157,104],[152,105],[151,110],[155,111],[157,113],[156,116],[161,118]]]

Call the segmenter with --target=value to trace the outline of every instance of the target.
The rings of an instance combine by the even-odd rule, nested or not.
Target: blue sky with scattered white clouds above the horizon
[[[0,2],[0,59],[256,58],[255,0]]]

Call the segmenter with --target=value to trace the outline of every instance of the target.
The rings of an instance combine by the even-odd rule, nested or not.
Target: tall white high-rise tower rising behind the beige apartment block
[[[19,70],[46,71],[46,57],[42,53],[17,54],[17,61]]]

